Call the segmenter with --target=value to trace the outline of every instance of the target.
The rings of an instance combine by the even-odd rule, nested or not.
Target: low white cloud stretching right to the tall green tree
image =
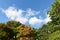
[[[37,17],[32,17],[32,18],[30,18],[30,20],[29,20],[29,24],[31,24],[31,25],[36,25],[36,24],[38,24],[38,25],[39,25],[39,24],[41,24],[41,23],[46,24],[46,23],[52,21],[52,20],[50,19],[49,15],[46,15],[46,16],[47,16],[47,17],[46,17],[45,19],[42,19],[41,16],[40,16],[40,19],[38,19]]]

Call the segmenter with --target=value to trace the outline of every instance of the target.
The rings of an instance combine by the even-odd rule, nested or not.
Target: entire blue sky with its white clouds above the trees
[[[47,10],[54,0],[0,0],[0,22],[16,20],[35,28],[51,21]]]

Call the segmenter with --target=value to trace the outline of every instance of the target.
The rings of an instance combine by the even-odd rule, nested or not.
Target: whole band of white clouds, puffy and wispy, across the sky
[[[40,11],[32,10],[31,8],[27,10],[22,10],[22,9],[16,9],[15,7],[9,7],[6,10],[2,9],[2,12],[5,13],[8,19],[19,21],[23,24],[28,22],[31,25],[35,25],[35,24],[40,24],[42,22],[47,23],[51,21],[49,15],[47,15],[45,19],[41,19],[41,16],[39,16],[40,19],[38,19],[35,15],[39,15]],[[23,13],[25,13],[24,16]],[[27,18],[30,16],[34,16],[34,17]]]

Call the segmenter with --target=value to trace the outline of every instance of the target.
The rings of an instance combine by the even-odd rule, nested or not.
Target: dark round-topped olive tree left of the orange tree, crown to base
[[[8,21],[6,23],[6,26],[7,26],[7,32],[9,33],[9,37],[13,38],[14,40],[16,40],[16,36],[17,36],[17,27],[19,27],[20,25],[22,25],[20,22],[17,22],[17,21]],[[10,38],[10,39],[11,39]]]

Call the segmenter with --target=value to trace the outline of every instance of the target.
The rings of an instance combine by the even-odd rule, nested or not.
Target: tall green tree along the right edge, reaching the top
[[[52,20],[48,25],[54,29],[51,29],[52,33],[49,35],[48,40],[60,40],[60,0],[55,0],[51,10],[48,11],[48,14]]]

